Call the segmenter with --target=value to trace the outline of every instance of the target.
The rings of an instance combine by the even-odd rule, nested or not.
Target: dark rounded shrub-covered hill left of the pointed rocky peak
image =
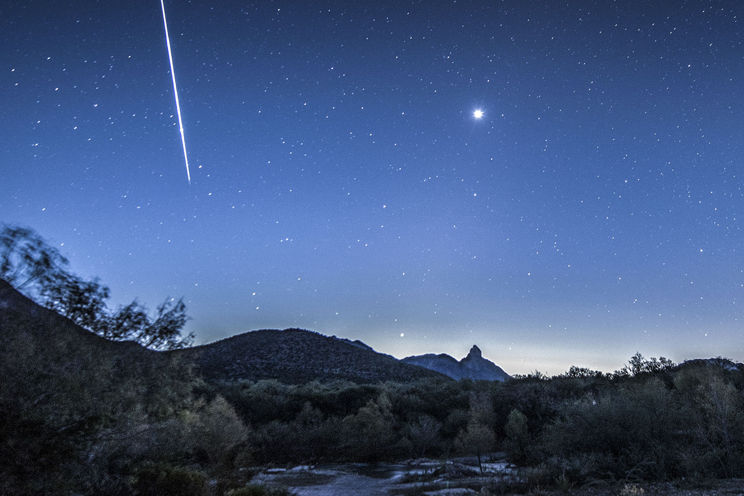
[[[408,382],[440,373],[375,352],[361,341],[304,329],[263,329],[167,352],[193,361],[208,381],[278,379],[286,384],[345,379]]]

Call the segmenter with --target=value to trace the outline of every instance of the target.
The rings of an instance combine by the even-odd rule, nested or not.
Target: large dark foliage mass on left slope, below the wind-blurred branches
[[[0,300],[12,302],[0,312],[0,493],[129,494],[130,468],[156,454],[190,404],[193,375],[83,331],[4,282]]]

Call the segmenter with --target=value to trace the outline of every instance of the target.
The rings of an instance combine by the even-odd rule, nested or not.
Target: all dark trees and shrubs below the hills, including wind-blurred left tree
[[[8,232],[4,276],[36,285],[33,294],[72,321],[0,281],[3,495],[280,495],[286,490],[249,486],[246,467],[455,454],[483,461],[492,451],[504,451],[519,471],[510,483],[532,494],[592,480],[640,494],[653,481],[744,477],[744,365],[725,358],[677,365],[637,354],[615,373],[571,367],[504,382],[205,378],[182,352],[75,325],[103,322],[121,337],[112,326],[131,319],[104,312],[97,281],[77,280],[75,291],[54,293],[57,303],[44,300],[54,277],[67,277],[62,258],[28,232],[24,242]]]

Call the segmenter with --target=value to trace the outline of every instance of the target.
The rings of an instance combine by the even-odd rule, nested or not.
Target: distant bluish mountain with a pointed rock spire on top
[[[483,358],[481,349],[475,346],[470,348],[470,352],[461,361],[455,360],[445,353],[434,355],[407,356],[401,360],[405,364],[419,365],[429,370],[436,370],[452,379],[484,379],[486,381],[505,381],[511,376],[504,372],[501,367],[494,364],[493,361]]]

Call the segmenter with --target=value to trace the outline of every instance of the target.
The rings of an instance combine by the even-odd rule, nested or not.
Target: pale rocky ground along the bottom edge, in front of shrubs
[[[289,487],[297,496],[744,496],[744,479],[706,484],[596,483],[528,488],[504,463],[484,464],[481,474],[472,459],[410,460],[369,467],[356,464],[299,466],[260,471],[251,482]]]

